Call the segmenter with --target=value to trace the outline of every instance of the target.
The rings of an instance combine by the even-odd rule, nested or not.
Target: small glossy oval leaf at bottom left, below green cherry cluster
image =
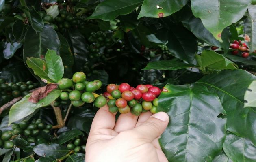
[[[55,158],[59,158],[68,153],[68,149],[65,146],[51,143],[48,144],[40,144],[34,147],[33,151],[39,156],[54,156]]]

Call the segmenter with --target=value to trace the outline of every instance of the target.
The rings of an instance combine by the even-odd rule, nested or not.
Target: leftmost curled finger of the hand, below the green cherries
[[[91,124],[90,134],[97,132],[99,129],[110,129],[113,130],[115,126],[115,115],[108,111],[108,106],[100,108]]]

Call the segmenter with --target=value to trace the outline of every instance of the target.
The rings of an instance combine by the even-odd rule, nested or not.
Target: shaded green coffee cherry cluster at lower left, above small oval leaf
[[[31,121],[22,121],[19,124],[13,124],[12,129],[13,135],[20,134],[22,139],[28,143],[39,145],[47,142],[45,138],[50,133],[52,125],[45,124],[42,119],[33,119]]]

